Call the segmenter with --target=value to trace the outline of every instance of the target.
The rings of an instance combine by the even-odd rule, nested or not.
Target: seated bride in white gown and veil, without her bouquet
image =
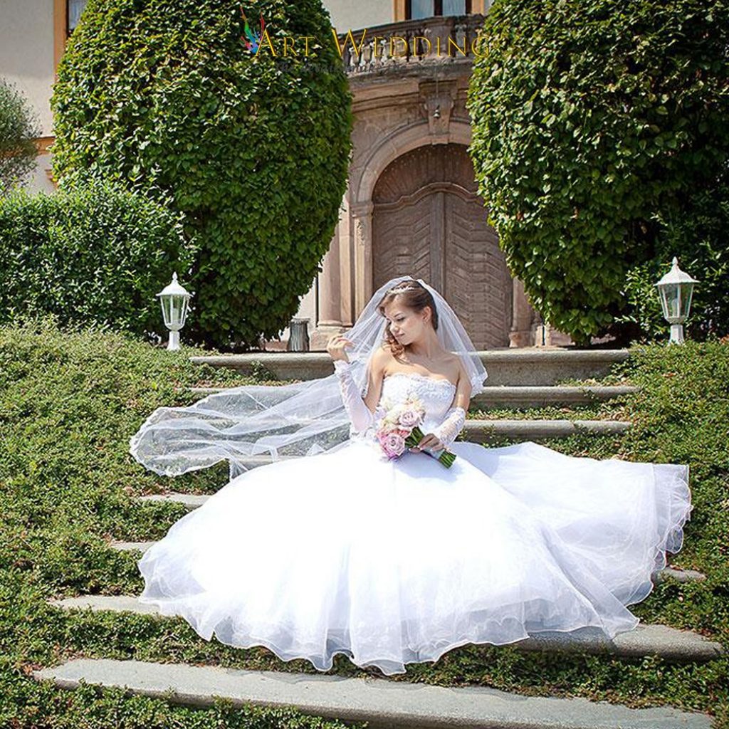
[[[206,640],[387,675],[469,643],[636,627],[627,606],[682,547],[687,466],[456,441],[486,370],[422,279],[382,286],[327,350],[328,377],[159,408],[131,439],[160,474],[230,462],[139,560],[141,602]],[[413,397],[425,436],[391,458],[378,423]]]

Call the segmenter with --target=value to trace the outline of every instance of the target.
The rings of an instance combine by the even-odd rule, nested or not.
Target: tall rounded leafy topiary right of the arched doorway
[[[615,332],[628,271],[683,265],[665,221],[726,168],[729,3],[496,0],[483,36],[469,152],[507,264],[578,342]]]

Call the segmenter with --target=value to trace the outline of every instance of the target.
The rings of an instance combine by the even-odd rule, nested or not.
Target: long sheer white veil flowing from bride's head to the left
[[[432,286],[438,314],[437,337],[443,348],[461,356],[472,396],[483,391],[486,368],[456,313]],[[354,344],[346,350],[352,375],[364,391],[367,364],[383,341],[386,319],[378,305],[389,289],[413,276],[391,278],[374,293],[350,330]],[[286,457],[330,451],[348,440],[350,422],[335,373],[286,385],[243,385],[208,395],[195,404],[157,408],[129,443],[129,452],[144,467],[176,476],[227,459],[230,479],[244,471]]]

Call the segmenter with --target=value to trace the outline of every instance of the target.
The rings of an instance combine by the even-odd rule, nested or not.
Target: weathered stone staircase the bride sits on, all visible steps
[[[624,384],[598,382],[611,367],[623,362],[623,350],[504,350],[480,353],[489,377],[486,392],[472,399],[472,410],[495,408],[580,407],[625,397],[635,389]],[[278,380],[318,378],[333,372],[328,354],[256,353],[195,357],[193,362],[214,367],[232,367],[244,374],[268,373]],[[588,380],[585,385],[561,385],[560,381]],[[204,396],[222,388],[193,388]],[[462,437],[485,443],[515,438],[566,437],[576,432],[596,437],[620,434],[630,427],[609,419],[467,419]],[[270,459],[265,458],[266,462]],[[210,498],[198,494],[149,494],[139,504],[167,502],[188,512]],[[143,553],[154,542],[112,541],[122,552]],[[703,580],[699,572],[666,569],[652,575],[655,584],[664,580]],[[139,603],[136,596],[77,596],[49,603],[61,610],[103,611],[149,615],[155,620],[178,620],[159,615],[154,606]],[[660,656],[674,662],[703,663],[725,655],[722,645],[693,632],[667,625],[641,623],[634,631],[607,640],[593,628],[572,633],[541,633],[509,645],[520,651],[560,655],[581,652],[594,655],[643,658]],[[700,712],[683,712],[661,706],[630,709],[614,703],[582,698],[543,698],[508,693],[486,687],[439,687],[407,680],[346,678],[329,674],[286,671],[246,671],[217,666],[149,663],[138,660],[92,660],[79,658],[61,666],[34,671],[34,678],[73,689],[81,682],[126,687],[130,692],[191,706],[212,706],[215,697],[225,697],[235,706],[295,706],[304,714],[343,722],[367,721],[373,729],[408,728],[520,728],[520,729],[709,729],[711,718]]]

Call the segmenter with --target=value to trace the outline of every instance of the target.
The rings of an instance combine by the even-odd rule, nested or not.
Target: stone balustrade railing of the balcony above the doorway
[[[359,28],[338,38],[346,72],[364,74],[413,63],[473,61],[481,28],[483,15],[446,15]]]

